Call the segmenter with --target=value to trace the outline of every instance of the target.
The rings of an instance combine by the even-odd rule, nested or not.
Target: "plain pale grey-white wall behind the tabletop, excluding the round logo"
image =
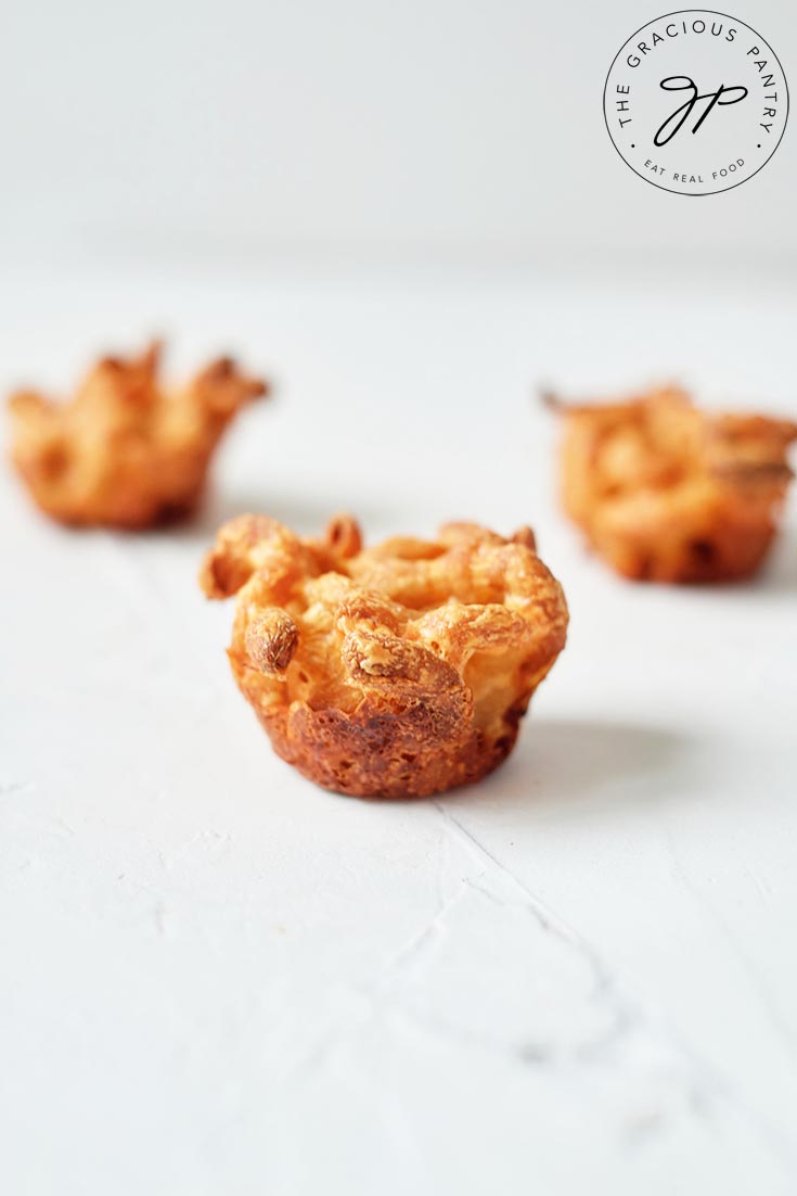
[[[0,43],[0,244],[250,267],[276,254],[793,266],[789,132],[753,187],[700,205],[645,185],[612,150],[608,67],[666,11],[17,5]],[[736,14],[797,78],[795,5],[756,0]]]

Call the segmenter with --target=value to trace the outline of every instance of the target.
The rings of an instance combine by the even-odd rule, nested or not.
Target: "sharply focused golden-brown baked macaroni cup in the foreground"
[[[448,524],[363,549],[349,517],[311,541],[240,515],[200,581],[238,596],[229,661],[275,750],[360,797],[424,797],[496,768],[568,627],[528,529]]]

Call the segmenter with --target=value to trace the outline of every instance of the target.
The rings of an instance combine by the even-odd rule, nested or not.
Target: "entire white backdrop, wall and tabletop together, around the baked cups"
[[[556,500],[540,382],[795,411],[791,129],[689,200],[601,90],[660,10],[22,7],[0,389],[172,334],[276,384],[200,518],[70,533],[0,471],[0,1185],[13,1196],[791,1196],[797,525],[632,586]],[[793,10],[748,19],[785,69]],[[719,275],[719,276],[718,276]],[[244,509],[532,523],[569,645],[483,785],[333,797],[197,590]]]

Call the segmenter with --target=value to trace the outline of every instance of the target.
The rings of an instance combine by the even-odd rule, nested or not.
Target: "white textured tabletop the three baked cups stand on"
[[[793,291],[6,283],[4,388],[179,332],[281,383],[198,525],[68,533],[0,477],[0,1182],[14,1196],[797,1185],[797,563],[633,587],[557,513],[538,378],[789,409]],[[225,334],[232,334],[227,340]],[[511,761],[361,803],[270,752],[195,585],[216,521],[538,530],[570,643]]]

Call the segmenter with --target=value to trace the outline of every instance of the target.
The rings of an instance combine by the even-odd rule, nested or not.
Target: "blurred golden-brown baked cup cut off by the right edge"
[[[601,407],[553,402],[565,511],[618,573],[666,582],[755,573],[792,477],[796,423],[707,415],[676,389]]]

